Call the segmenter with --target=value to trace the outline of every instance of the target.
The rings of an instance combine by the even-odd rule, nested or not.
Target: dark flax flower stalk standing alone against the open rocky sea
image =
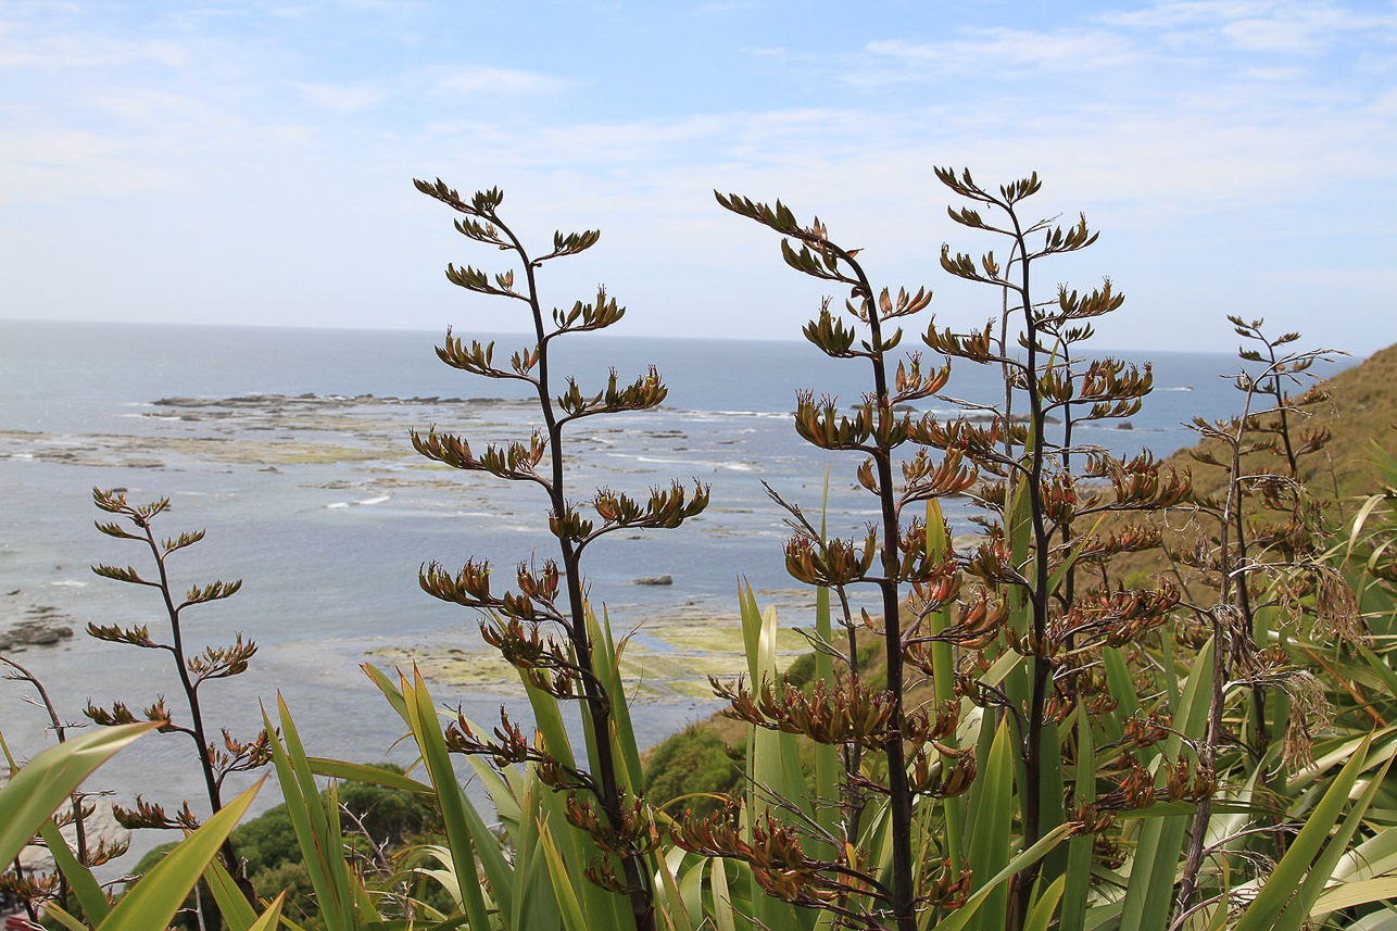
[[[535,700],[541,703],[578,699],[587,730],[588,763],[573,762],[569,746],[556,735],[529,739],[502,713],[495,739],[472,730],[460,719],[447,732],[455,752],[485,755],[500,766],[525,763],[555,790],[569,793],[569,821],[588,835],[601,851],[587,876],[605,889],[629,899],[629,923],[648,931],[655,927],[655,889],[651,854],[658,846],[652,816],[637,797],[638,758],[629,735],[624,695],[615,668],[616,653],[609,628],[599,625],[587,602],[587,582],[581,558],[587,547],[619,530],[672,528],[698,514],[708,503],[708,489],[696,482],[686,489],[679,482],[654,488],[648,498],[631,498],[608,488],[597,489],[584,503],[570,496],[564,470],[564,428],[588,417],[644,411],[659,405],[666,389],[651,366],[633,383],[617,382],[615,370],[606,386],[584,391],[571,377],[562,382],[552,370],[555,341],[564,335],[604,330],[622,319],[624,308],[604,288],[592,302],[576,302],[571,309],[545,312],[538,288],[539,268],[555,259],[592,247],[599,233],[556,233],[550,250],[529,252],[499,215],[499,190],[462,199],[444,183],[415,182],[418,190],[448,205],[461,217],[455,228],[468,239],[510,253],[517,268],[490,275],[474,267],[447,267],[451,284],[474,294],[524,305],[535,341],[513,354],[507,365],[495,361],[495,344],[467,344],[447,331],[437,356],[451,368],[490,379],[522,382],[538,397],[541,426],[528,442],[486,446],[476,452],[464,438],[434,428],[414,433],[416,450],[434,461],[465,471],[482,471],[496,478],[536,485],[549,506],[548,528],[557,540],[557,558],[542,566],[520,563],[517,590],[492,591],[490,566],[471,559],[455,573],[437,563],[422,572],[429,594],[483,615],[481,632],[506,660],[514,664]],[[518,277],[515,275],[518,273]],[[587,510],[595,519],[587,516]],[[606,665],[609,664],[609,667]],[[543,709],[543,716],[556,710]],[[617,728],[626,731],[617,735]],[[541,731],[542,734],[542,731]],[[627,758],[631,758],[627,760]],[[496,895],[506,890],[497,889]],[[620,920],[620,918],[617,918]]]

